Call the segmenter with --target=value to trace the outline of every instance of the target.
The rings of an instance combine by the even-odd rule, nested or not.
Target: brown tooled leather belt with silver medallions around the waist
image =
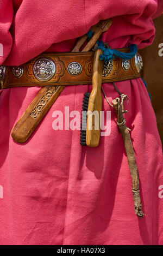
[[[129,49],[117,49],[130,52]],[[94,51],[42,53],[21,66],[0,66],[2,88],[92,84]],[[104,63],[102,82],[140,77],[139,53],[130,60],[114,58]]]

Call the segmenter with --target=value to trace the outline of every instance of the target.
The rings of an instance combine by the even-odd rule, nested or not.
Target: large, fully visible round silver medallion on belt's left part
[[[37,80],[48,81],[55,74],[55,63],[51,58],[39,58],[34,63],[33,73]]]

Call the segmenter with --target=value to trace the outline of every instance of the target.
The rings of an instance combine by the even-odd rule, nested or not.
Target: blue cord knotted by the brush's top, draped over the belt
[[[102,61],[110,61],[110,59],[112,60],[114,56],[120,57],[123,59],[131,59],[135,56],[137,52],[136,44],[129,45],[130,52],[121,52],[115,49],[105,48],[103,41],[97,41],[97,43],[98,43],[97,49],[102,49],[103,51],[103,54],[99,56],[99,59],[101,59]]]

